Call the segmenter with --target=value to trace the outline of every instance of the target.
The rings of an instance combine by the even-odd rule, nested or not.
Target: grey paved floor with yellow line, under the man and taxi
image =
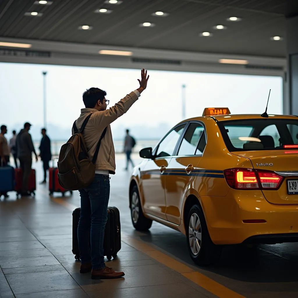
[[[198,268],[179,232],[157,223],[149,233],[134,231],[123,158],[117,156],[109,204],[120,210],[122,249],[107,265],[125,271],[125,277],[91,280],[79,273],[71,251],[71,210],[79,206],[79,195],[50,198],[47,186],[38,185],[35,198],[17,200],[10,193],[0,202],[1,298],[298,297],[296,243],[228,247],[219,264]],[[41,164],[34,167],[40,181]]]

